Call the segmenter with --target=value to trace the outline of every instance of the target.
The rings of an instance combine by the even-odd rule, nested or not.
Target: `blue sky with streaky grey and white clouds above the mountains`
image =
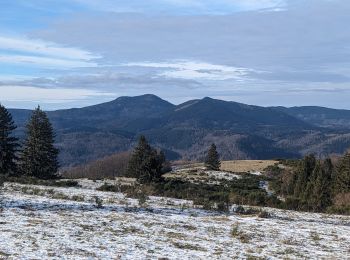
[[[1,0],[0,102],[350,109],[348,0]]]

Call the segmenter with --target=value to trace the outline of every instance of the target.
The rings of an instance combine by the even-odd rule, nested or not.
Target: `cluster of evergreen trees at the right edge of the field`
[[[307,155],[279,178],[288,208],[315,212],[350,212],[350,153],[333,163]]]

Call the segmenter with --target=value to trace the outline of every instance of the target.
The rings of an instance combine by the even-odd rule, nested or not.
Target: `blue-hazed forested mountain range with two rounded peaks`
[[[24,137],[30,110],[10,109]],[[47,112],[63,167],[132,148],[144,134],[169,159],[201,160],[211,143],[222,159],[326,156],[350,146],[350,111],[260,107],[212,98],[173,105],[155,95]]]

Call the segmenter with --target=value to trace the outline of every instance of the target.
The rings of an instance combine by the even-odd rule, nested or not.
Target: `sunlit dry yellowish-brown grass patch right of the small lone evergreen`
[[[221,170],[231,172],[260,172],[266,167],[272,166],[278,161],[273,160],[235,160],[222,161]]]

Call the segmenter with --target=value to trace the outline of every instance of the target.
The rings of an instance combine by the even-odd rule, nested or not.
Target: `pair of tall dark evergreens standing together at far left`
[[[59,150],[54,146],[53,127],[38,106],[26,124],[24,142],[15,137],[10,112],[0,105],[0,176],[57,177]]]

